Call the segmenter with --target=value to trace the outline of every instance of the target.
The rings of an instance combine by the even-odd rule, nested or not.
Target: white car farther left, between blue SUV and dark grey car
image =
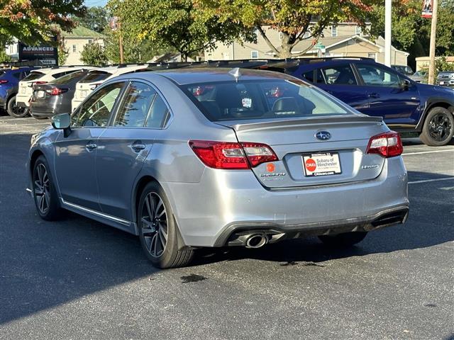
[[[93,67],[58,67],[48,69],[34,69],[22,81],[19,81],[16,105],[22,108],[30,107],[30,98],[33,95],[33,84],[45,84],[54,79],[65,76],[80,69],[93,69]]]

